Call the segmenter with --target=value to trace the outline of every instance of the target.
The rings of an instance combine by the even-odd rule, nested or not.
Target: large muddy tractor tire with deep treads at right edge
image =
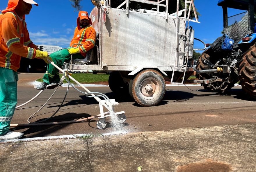
[[[239,81],[243,91],[256,98],[256,44],[252,45],[239,61]]]

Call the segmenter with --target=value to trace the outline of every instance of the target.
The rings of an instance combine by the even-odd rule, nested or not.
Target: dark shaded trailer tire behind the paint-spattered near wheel
[[[109,74],[109,88],[114,93],[127,92],[128,85],[124,82],[119,71],[113,71]]]

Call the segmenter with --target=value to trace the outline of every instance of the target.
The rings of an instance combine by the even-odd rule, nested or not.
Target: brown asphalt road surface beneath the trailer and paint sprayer
[[[19,75],[20,77],[20,75]],[[22,77],[21,77],[22,78]],[[32,76],[26,77],[34,79]],[[28,82],[26,80],[26,82]],[[77,87],[81,89],[81,87]],[[189,88],[189,89],[188,89]],[[109,87],[88,87],[91,92],[102,92],[110,99],[115,99],[119,105],[115,106],[115,112],[125,111],[127,117],[122,130],[125,132],[141,131],[168,131],[187,127],[223,126],[234,124],[250,124],[256,122],[255,101],[248,98],[240,86],[233,87],[225,95],[207,92],[200,86],[171,86],[163,101],[154,107],[141,107],[134,103],[125,94],[118,95],[111,92]],[[50,117],[59,107],[65,96],[67,87],[60,87],[45,107],[40,110],[32,122]],[[34,97],[39,91],[33,85],[18,82],[18,104],[23,104]],[[54,92],[45,90],[31,103],[15,110],[12,124],[27,123],[27,119],[40,109]],[[47,122],[70,121],[100,114],[99,104],[94,98],[70,88],[61,109]],[[102,134],[116,132],[111,121],[104,130],[96,127],[97,118],[72,124],[54,126],[15,127],[13,130],[24,132],[24,136],[45,137],[56,135],[70,135],[81,133]]]

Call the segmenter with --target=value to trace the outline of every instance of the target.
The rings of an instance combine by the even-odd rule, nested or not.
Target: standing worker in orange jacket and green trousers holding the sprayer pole
[[[17,70],[21,57],[41,58],[47,62],[48,53],[38,50],[29,38],[25,15],[33,0],[9,0],[0,14],[0,140],[17,139],[21,132],[9,130],[17,104]]]

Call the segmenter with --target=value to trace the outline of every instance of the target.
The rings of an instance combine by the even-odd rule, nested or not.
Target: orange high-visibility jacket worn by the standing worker
[[[17,71],[21,57],[35,58],[38,49],[29,38],[26,22],[14,10],[0,14],[0,67]]]

